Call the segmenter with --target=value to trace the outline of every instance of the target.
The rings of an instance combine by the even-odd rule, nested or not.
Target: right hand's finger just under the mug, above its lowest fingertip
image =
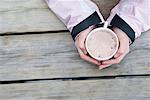
[[[123,54],[121,56],[119,56],[118,58],[115,59],[110,59],[107,61],[103,61],[102,64],[107,65],[107,64],[118,64],[122,61],[122,59],[125,57],[126,54]]]

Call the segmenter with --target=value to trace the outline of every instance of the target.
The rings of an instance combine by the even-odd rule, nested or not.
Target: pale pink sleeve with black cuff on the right
[[[124,31],[134,42],[142,32],[150,29],[150,0],[120,0],[107,21]]]

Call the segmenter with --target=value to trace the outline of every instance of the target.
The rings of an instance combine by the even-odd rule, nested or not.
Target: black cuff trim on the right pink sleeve
[[[134,30],[117,14],[114,16],[110,23],[113,27],[118,27],[122,31],[124,31],[128,37],[131,39],[132,43],[135,40],[135,32]]]

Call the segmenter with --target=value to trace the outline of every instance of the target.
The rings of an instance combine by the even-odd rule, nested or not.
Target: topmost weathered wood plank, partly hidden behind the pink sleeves
[[[94,1],[106,17],[117,0]],[[66,27],[48,9],[44,0],[1,0],[0,34],[54,30],[66,30]]]

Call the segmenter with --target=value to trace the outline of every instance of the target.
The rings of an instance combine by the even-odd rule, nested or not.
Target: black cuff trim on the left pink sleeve
[[[89,26],[98,24],[101,22],[101,19],[97,12],[95,11],[92,15],[90,15],[88,18],[77,24],[73,27],[73,30],[71,32],[73,40],[75,40],[75,37],[83,30],[87,29]]]

